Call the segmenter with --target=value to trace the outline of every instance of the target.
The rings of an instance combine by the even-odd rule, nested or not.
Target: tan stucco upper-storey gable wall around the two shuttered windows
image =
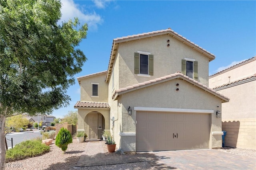
[[[167,47],[167,40],[170,46]],[[154,55],[154,76],[141,77],[134,74],[134,52],[144,51]],[[144,82],[181,71],[184,58],[198,61],[198,82],[208,86],[208,57],[188,47],[170,35],[150,37],[146,39],[120,43],[119,56],[119,86],[123,88],[138,82]],[[115,66],[117,66],[115,64]]]

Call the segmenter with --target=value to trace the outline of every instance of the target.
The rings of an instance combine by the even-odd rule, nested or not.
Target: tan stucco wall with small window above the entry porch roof
[[[80,79],[81,102],[108,102],[108,84],[105,82],[106,73]],[[92,96],[92,83],[98,84],[98,97]]]

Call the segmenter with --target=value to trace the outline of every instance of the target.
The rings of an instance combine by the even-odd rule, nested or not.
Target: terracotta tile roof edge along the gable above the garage
[[[188,76],[185,76],[184,74],[182,74],[180,72],[176,72],[174,74],[170,74],[170,75],[163,76],[163,77],[160,77],[160,78],[156,78],[156,79],[153,79],[153,80],[149,80],[149,81],[146,81],[146,82],[134,84],[132,86],[127,86],[125,88],[120,88],[120,89],[116,90],[113,93],[112,99],[116,100],[116,99],[118,99],[118,97],[121,94],[124,94],[126,92],[138,90],[140,88],[144,88],[144,87],[147,87],[147,86],[151,86],[151,85],[158,84],[158,83],[161,83],[161,82],[166,82],[166,81],[173,80],[173,79],[185,80],[186,82],[188,82],[190,84],[193,84],[193,85],[199,87],[200,89],[202,89],[202,90],[220,98],[223,102],[228,102],[229,101],[229,98],[224,96],[223,94],[220,94],[219,92],[216,92],[215,90],[212,90],[208,86],[206,86],[206,85],[204,85],[204,84],[202,84],[202,83],[200,83],[196,80],[193,80],[192,78],[189,78]]]

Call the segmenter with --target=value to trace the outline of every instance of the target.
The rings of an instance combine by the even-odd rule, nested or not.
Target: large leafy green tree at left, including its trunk
[[[61,6],[60,0],[0,0],[0,164],[6,117],[67,106],[66,90],[86,61],[78,45],[87,24],[75,18],[58,25]]]

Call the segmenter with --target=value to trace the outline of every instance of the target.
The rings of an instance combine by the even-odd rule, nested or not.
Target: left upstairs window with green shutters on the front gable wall
[[[154,55],[148,52],[138,51],[134,53],[134,74],[146,74],[153,76]]]

